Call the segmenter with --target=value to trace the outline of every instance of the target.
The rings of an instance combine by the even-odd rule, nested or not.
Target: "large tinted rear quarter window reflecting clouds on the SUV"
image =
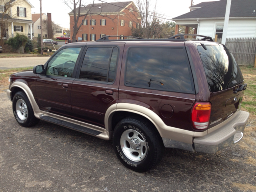
[[[192,92],[188,62],[182,48],[131,48],[126,85]]]

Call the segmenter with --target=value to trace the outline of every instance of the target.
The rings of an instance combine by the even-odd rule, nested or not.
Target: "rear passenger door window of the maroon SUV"
[[[89,47],[86,50],[80,79],[113,82],[116,74],[116,47]]]

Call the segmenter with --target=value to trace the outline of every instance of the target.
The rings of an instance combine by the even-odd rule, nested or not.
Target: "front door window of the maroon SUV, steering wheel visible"
[[[72,77],[81,48],[60,50],[48,63],[46,75]]]

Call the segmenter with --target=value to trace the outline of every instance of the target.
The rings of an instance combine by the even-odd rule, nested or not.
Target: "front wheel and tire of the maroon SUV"
[[[22,91],[14,95],[12,110],[16,121],[23,127],[31,127],[39,122],[39,119],[34,116],[28,96]]]

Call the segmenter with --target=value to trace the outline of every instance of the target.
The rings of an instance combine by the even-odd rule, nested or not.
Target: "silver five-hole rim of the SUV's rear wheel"
[[[129,129],[123,132],[120,144],[122,151],[130,160],[139,162],[146,157],[146,140],[138,131]]]

